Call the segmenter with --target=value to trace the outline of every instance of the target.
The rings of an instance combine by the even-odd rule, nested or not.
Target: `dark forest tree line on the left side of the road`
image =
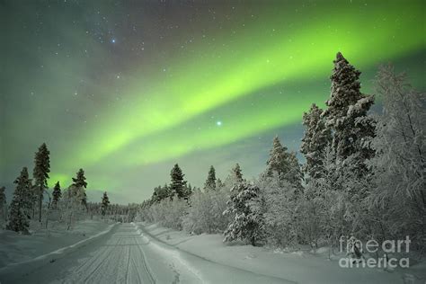
[[[137,205],[110,204],[106,191],[103,192],[101,202],[88,202],[83,169],[78,170],[72,178],[72,184],[66,189],[61,189],[60,183],[56,182],[50,191],[49,155],[48,146],[43,143],[34,156],[32,178],[28,168],[23,167],[13,182],[15,189],[9,206],[5,188],[0,188],[0,225],[5,229],[29,234],[31,229],[47,229],[49,223],[59,223],[70,230],[76,221],[88,217],[96,216],[122,222],[129,222],[135,217]]]

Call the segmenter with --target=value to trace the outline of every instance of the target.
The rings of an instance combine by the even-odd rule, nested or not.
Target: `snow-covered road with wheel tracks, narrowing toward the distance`
[[[2,283],[290,283],[185,253],[142,227],[120,224],[90,244],[31,269],[0,274]]]

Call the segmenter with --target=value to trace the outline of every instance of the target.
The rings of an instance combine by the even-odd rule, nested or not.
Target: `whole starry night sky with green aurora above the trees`
[[[213,164],[261,173],[278,135],[324,105],[337,51],[373,93],[392,62],[424,90],[424,1],[1,0],[0,185],[34,152],[49,184],[83,167],[91,201],[140,202],[179,163],[202,186]]]

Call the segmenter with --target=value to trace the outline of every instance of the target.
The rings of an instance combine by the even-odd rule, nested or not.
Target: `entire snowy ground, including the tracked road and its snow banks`
[[[0,269],[0,282],[424,283],[400,271],[342,269],[321,253],[226,245],[220,235],[191,236],[140,223],[112,226],[105,232],[73,250]],[[424,273],[421,267],[405,272],[416,269]]]

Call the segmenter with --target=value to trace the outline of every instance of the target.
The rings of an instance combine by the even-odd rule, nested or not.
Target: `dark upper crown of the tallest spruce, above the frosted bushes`
[[[350,155],[359,155],[358,167],[364,170],[362,164],[374,154],[367,145],[374,137],[375,122],[367,116],[374,96],[360,92],[361,73],[342,53],[337,53],[333,63],[331,96],[324,111],[327,125],[333,131],[333,150],[341,161]]]

